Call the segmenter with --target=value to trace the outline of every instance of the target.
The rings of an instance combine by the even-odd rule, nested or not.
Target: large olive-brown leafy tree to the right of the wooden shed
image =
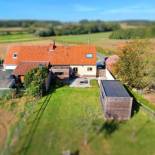
[[[143,89],[148,85],[147,60],[144,53],[147,42],[133,41],[122,49],[118,62],[118,77],[131,88]]]

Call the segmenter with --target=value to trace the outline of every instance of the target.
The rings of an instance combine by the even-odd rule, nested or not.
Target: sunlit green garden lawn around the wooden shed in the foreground
[[[155,154],[154,120],[139,111],[127,122],[105,122],[97,84],[85,89],[62,87],[49,96],[34,133],[30,128],[37,113],[23,128],[13,149],[16,154],[61,155],[68,150],[75,155]],[[36,111],[44,100],[37,104]]]

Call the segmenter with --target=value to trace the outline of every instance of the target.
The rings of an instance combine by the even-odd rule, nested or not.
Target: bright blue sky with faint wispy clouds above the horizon
[[[0,19],[155,20],[155,0],[0,0]]]

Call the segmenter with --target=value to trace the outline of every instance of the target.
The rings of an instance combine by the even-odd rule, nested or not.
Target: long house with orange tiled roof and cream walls
[[[18,45],[7,51],[5,70],[24,76],[39,65],[46,65],[61,79],[71,75],[96,77],[96,48],[91,45],[56,46]]]

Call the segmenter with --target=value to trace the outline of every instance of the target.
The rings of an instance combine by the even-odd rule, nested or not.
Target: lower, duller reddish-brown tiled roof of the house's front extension
[[[39,65],[47,66],[47,62],[22,62],[13,71],[14,75],[25,75],[30,70],[37,68]]]

